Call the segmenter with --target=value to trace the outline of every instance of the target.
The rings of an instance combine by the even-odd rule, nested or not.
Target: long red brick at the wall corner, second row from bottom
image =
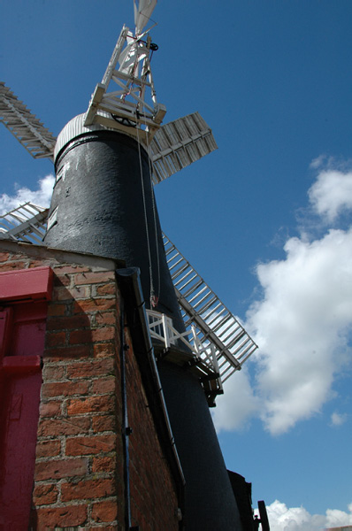
[[[63,502],[84,500],[114,495],[113,480],[86,480],[78,483],[63,483],[61,486],[61,499]]]

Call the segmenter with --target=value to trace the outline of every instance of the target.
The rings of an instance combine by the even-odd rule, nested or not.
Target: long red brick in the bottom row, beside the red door
[[[50,531],[56,527],[83,526],[87,521],[87,505],[39,507],[36,514],[37,531]]]

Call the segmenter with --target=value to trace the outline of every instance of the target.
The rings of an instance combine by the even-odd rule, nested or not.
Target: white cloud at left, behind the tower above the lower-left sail
[[[38,189],[36,190],[30,190],[26,187],[23,187],[17,189],[13,196],[3,194],[0,196],[0,215],[10,212],[12,209],[17,208],[20,204],[27,203],[27,201],[39,206],[48,207],[50,205],[50,198],[54,183],[54,175],[47,175],[38,181]]]

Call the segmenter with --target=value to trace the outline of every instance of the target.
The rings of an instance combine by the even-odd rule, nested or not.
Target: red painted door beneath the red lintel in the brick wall
[[[11,279],[15,281],[16,276],[12,275]],[[2,280],[0,276],[0,296]],[[46,302],[28,299],[24,302],[19,296],[17,298],[17,301],[4,303],[0,311],[2,531],[28,529],[47,316]]]

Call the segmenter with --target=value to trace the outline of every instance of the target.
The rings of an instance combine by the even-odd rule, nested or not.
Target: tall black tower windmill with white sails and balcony
[[[217,146],[197,112],[161,125],[166,109],[157,102],[150,66],[157,46],[146,29],[156,4],[134,2],[134,33],[122,28],[87,112],[57,139],[0,83],[1,121],[34,158],[50,158],[56,167],[50,211],[21,205],[0,220],[0,237],[36,243],[43,237],[51,247],[140,267],[185,470],[188,526],[226,529],[238,523],[238,513],[208,405],[256,344],[159,227],[153,186]]]

